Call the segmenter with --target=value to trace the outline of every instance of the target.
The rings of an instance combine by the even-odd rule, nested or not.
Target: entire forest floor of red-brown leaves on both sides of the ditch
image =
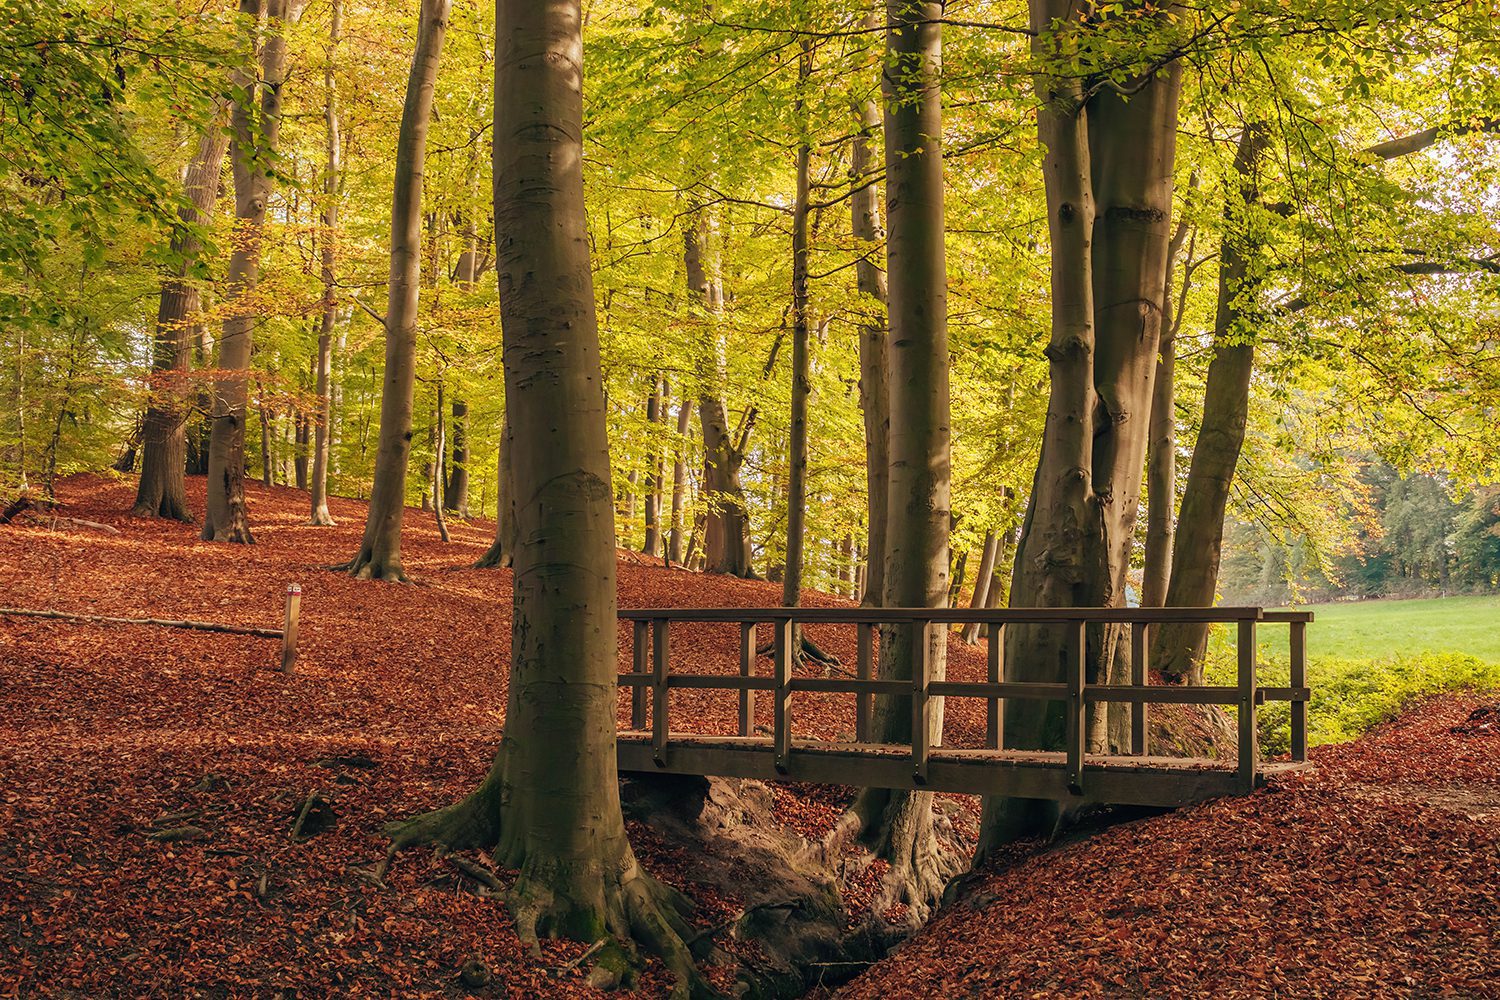
[[[582,945],[528,952],[452,864],[412,852],[370,879],[382,825],[462,796],[494,754],[510,574],[466,568],[490,523],[453,523],[446,544],[408,511],[417,585],[396,586],[324,570],[357,549],[352,501],[332,502],[338,528],[310,528],[306,493],[250,484],[258,544],[238,547],[124,516],[130,481],[58,493],[120,534],[0,528],[0,604],[276,628],[297,582],[302,657],[284,675],[274,640],[0,619],[0,996],[596,996]],[[201,510],[202,480],[189,499]],[[632,553],[620,586],[627,607],[778,598]],[[810,634],[852,663],[854,636]],[[674,670],[728,672],[736,642],[732,625],[674,628]],[[951,661],[982,670],[957,643]],[[734,696],[692,694],[674,724],[729,726]],[[1428,702],[1246,799],[1016,852],[846,993],[1500,996],[1500,711],[1468,718],[1494,700]],[[852,730],[836,696],[800,697],[796,720],[798,735]],[[948,742],[981,726],[976,703],[952,703]],[[292,840],[312,795],[326,805],[302,832],[316,835]],[[776,816],[819,838],[849,799],[783,786]],[[975,802],[945,813],[970,841]],[[736,912],[696,885],[690,852],[639,823],[632,838],[702,924]],[[843,888],[854,909],[868,892]],[[495,982],[468,991],[474,958]],[[663,994],[648,970],[634,996]]]

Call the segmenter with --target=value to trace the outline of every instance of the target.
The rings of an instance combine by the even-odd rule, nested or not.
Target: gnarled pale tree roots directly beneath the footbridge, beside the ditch
[[[906,907],[906,922],[921,927],[942,903],[948,883],[964,871],[964,859],[945,843],[948,819],[933,811],[932,792],[864,789],[844,819],[825,840],[825,852],[838,852],[852,837],[890,864],[872,913]]]

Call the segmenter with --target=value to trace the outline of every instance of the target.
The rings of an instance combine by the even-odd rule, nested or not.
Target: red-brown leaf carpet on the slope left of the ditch
[[[202,490],[189,480],[194,510]],[[300,583],[300,658],[284,675],[276,640],[0,618],[0,996],[460,996],[471,958],[495,982],[470,993],[592,996],[586,966],[567,967],[584,946],[528,954],[504,907],[477,898],[453,865],[412,852],[388,888],[368,877],[382,825],[460,798],[498,744],[510,571],[468,568],[492,523],[450,522],[442,543],[430,514],[408,511],[404,556],[417,583],[399,586],[326,568],[358,547],[358,502],[333,499],[338,526],[314,528],[306,493],[250,483],[256,544],[246,547],[126,516],[134,481],[74,477],[58,498],[63,514],[118,534],[0,528],[0,606],[279,628],[285,588]],[[774,585],[621,553],[624,607],[778,598]],[[855,637],[843,631],[808,630],[852,663]],[[620,634],[628,670],[630,631]],[[674,627],[672,645],[674,670],[738,669],[735,625]],[[956,643],[952,661],[956,676],[981,678],[982,652]],[[758,711],[766,727],[768,702]],[[980,739],[976,703],[950,717],[956,739]],[[675,729],[728,733],[736,720],[732,693],[674,694]],[[852,730],[849,699],[798,696],[800,736]],[[333,826],[292,843],[310,795]],[[820,837],[849,801],[848,789],[786,786],[776,808],[788,828]],[[972,837],[974,802],[958,801],[948,802],[966,817],[956,826]],[[639,825],[632,840],[652,874],[690,892],[702,924],[738,909],[693,885],[680,846]],[[878,871],[850,877],[852,909],[868,904]],[[652,967],[639,996],[663,993]]]

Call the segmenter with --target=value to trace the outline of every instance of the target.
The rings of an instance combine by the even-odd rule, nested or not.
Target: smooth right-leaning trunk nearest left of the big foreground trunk
[[[400,522],[406,510],[411,459],[411,405],[417,379],[417,300],[422,285],[422,181],[428,124],[448,25],[450,0],[422,0],[417,49],[406,79],[406,100],[396,141],[396,190],[390,211],[390,294],[386,304],[386,379],[380,406],[375,481],[352,576],[405,580]]]

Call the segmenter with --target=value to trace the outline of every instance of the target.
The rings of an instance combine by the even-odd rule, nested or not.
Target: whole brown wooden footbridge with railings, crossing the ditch
[[[812,781],[890,789],[930,789],[970,795],[1006,795],[1060,801],[1132,805],[1186,805],[1222,795],[1245,793],[1269,774],[1306,766],[1306,625],[1305,612],[1268,612],[1258,607],[1220,609],[652,609],[621,610],[632,622],[633,670],[620,675],[632,688],[630,730],[620,735],[620,769]],[[740,627],[736,673],[674,673],[674,624]],[[990,625],[987,678],[980,682],[930,676],[930,643],[912,643],[920,652],[910,681],[880,679],[878,630],[880,625],[942,630],[980,622]],[[1239,664],[1234,687],[1150,684],[1146,649],[1150,628],[1167,622],[1226,624],[1236,630]],[[1072,631],[1066,679],[1058,684],[1006,681],[1004,630],[1012,625],[1050,625]],[[1130,684],[1088,684],[1084,642],[1090,625],[1113,624],[1128,633]],[[852,625],[858,636],[854,676],[794,676],[792,642],[800,625]],[[1260,625],[1290,630],[1288,687],[1257,684],[1256,636]],[[771,633],[771,672],[758,673],[760,630]],[[930,636],[930,633],[928,633]],[[1124,639],[1122,639],[1124,640]],[[735,691],[740,700],[738,732],[674,732],[669,702],[680,690]],[[756,696],[771,697],[770,735],[758,735]],[[795,696],[849,694],[855,699],[854,742],[794,739]],[[646,702],[650,696],[650,720]],[[872,741],[873,700],[898,696],[910,700],[910,745]],[[946,747],[934,726],[939,699],[981,699],[986,703],[984,745]],[[1008,699],[1052,700],[1065,705],[1065,748],[1056,753],[1006,750],[1004,703]],[[1290,702],[1290,760],[1263,762],[1257,739],[1257,709],[1264,702]],[[1086,751],[1088,706],[1131,706],[1128,753]],[[1152,705],[1222,705],[1238,715],[1238,754],[1232,760],[1148,756]]]

